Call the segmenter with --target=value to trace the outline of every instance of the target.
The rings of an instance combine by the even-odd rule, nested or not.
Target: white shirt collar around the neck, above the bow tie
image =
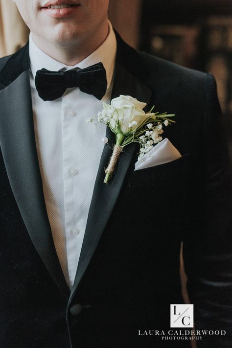
[[[71,70],[71,69],[84,69],[93,64],[102,62],[106,70],[107,78],[107,88],[110,87],[114,69],[115,69],[115,59],[116,59],[116,36],[113,30],[112,24],[109,21],[109,33],[105,41],[88,57],[83,59],[78,64],[73,67],[66,66],[63,63],[58,62],[57,60],[48,56],[44,51],[42,51],[33,41],[32,35],[29,36],[29,57],[30,57],[30,69],[35,78],[36,71],[40,69],[47,69],[52,71],[59,70]]]

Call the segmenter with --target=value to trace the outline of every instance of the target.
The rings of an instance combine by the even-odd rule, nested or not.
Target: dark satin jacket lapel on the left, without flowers
[[[12,191],[34,247],[60,290],[68,297],[69,289],[55,251],[46,213],[37,159],[29,67],[25,63],[28,52],[24,52],[23,64],[20,61],[21,68],[25,68],[23,71],[14,68],[18,67],[17,57],[12,56],[4,69],[5,74],[11,71],[7,81],[12,82],[0,91],[0,146]],[[0,81],[3,86],[4,71]]]

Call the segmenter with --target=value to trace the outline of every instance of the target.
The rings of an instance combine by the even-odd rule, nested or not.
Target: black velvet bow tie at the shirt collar
[[[72,87],[79,87],[82,92],[93,94],[100,100],[106,93],[106,70],[102,63],[80,70],[41,69],[36,72],[35,86],[43,100],[60,98],[67,88]]]

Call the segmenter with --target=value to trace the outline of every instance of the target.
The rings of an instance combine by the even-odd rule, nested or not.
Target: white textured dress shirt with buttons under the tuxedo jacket
[[[52,59],[29,38],[30,84],[35,140],[43,181],[48,219],[59,261],[71,288],[85,234],[93,186],[104,147],[106,126],[86,123],[110,102],[116,58],[116,37],[109,34],[101,46],[74,67]],[[102,100],[69,88],[54,101],[42,100],[35,88],[36,71],[87,68],[102,62],[107,74],[107,92]],[[104,170],[104,168],[102,168]]]

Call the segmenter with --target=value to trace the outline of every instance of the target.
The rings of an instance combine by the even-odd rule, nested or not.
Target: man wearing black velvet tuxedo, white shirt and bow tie
[[[0,60],[0,347],[190,347],[162,338],[183,303],[182,241],[196,328],[226,331],[198,347],[230,347],[232,178],[213,77],[127,46],[108,0],[15,2],[31,34]],[[105,185],[115,136],[85,120],[119,94],[175,113],[164,137],[182,157],[134,171],[132,143]]]

